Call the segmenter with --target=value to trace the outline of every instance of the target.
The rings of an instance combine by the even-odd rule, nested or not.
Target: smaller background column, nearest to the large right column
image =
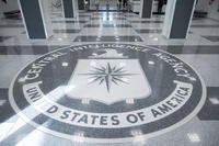
[[[140,0],[140,18],[150,19],[153,11],[153,0]]]

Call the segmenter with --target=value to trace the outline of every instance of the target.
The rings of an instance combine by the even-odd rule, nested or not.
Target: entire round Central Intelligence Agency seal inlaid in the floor
[[[120,143],[186,123],[203,106],[199,75],[147,46],[90,44],[50,52],[23,68],[10,103],[37,130],[68,139]]]

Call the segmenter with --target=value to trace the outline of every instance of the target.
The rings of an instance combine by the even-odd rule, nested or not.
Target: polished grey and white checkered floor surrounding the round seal
[[[54,34],[46,41],[27,40],[22,20],[1,19],[0,21],[1,146],[219,145],[218,20],[210,18],[194,19],[188,38],[180,41],[166,40],[162,36],[163,15],[153,15],[152,19],[148,20],[139,19],[134,13],[80,11],[78,19],[64,19],[60,10],[50,10],[49,12]],[[19,70],[42,55],[51,50],[58,50],[58,48],[102,43],[151,46],[158,48],[158,50],[171,53],[189,64],[192,68],[199,72],[207,87],[207,99],[203,109],[192,120],[168,133],[150,138],[143,137],[132,142],[116,144],[110,144],[108,141],[106,144],[97,144],[95,141],[87,143],[83,138],[80,138],[82,136],[70,139],[47,134],[41,131],[41,126],[37,127],[28,124],[26,120],[18,114],[18,111],[14,112],[9,101],[9,88]],[[62,63],[62,66],[68,66],[68,64]],[[49,79],[58,80],[59,71],[50,71],[50,74],[47,75]],[[163,72],[163,76],[168,75]],[[60,78],[62,78],[62,75]],[[57,82],[55,81],[55,83]],[[45,90],[47,89],[45,88]],[[27,114],[32,116],[32,112]],[[178,114],[180,116],[181,114]],[[111,141],[113,142],[114,139]]]

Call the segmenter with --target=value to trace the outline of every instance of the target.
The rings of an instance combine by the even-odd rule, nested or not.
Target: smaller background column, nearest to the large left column
[[[64,15],[66,19],[76,18],[78,0],[62,0]]]

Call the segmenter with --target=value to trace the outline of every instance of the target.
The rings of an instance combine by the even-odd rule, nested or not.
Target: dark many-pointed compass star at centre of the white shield
[[[89,83],[99,82],[99,85],[105,83],[107,91],[111,91],[112,85],[127,83],[127,77],[138,74],[128,74],[124,67],[112,66],[110,63],[106,66],[92,67],[91,72],[80,74],[90,76],[91,81]]]

